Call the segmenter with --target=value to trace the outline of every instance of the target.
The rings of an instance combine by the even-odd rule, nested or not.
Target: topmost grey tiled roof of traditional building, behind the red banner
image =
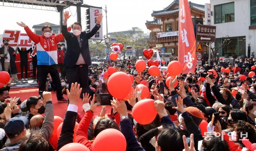
[[[179,4],[179,0],[174,0],[169,6],[167,6],[163,10],[157,10],[157,11],[153,10],[153,13],[151,14],[151,16],[165,16],[165,15],[175,14],[179,12],[179,8],[178,6],[172,8],[172,6],[174,6],[174,4],[177,4],[177,3]],[[194,8],[195,10],[204,12],[204,5],[189,2],[189,6],[190,8]]]

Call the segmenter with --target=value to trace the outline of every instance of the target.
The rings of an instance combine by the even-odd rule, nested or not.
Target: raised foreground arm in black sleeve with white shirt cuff
[[[79,87],[80,84],[72,83],[70,84],[70,91],[67,89],[69,104],[63,120],[60,137],[58,139],[57,151],[64,145],[73,143],[73,134],[78,110],[77,102],[79,101],[79,97],[82,92],[82,88],[79,89]]]

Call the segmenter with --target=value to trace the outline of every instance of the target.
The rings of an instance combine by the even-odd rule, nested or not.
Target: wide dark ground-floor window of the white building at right
[[[226,38],[216,38],[215,46],[220,46]],[[246,37],[229,37],[226,44],[218,50],[220,56],[246,55]]]

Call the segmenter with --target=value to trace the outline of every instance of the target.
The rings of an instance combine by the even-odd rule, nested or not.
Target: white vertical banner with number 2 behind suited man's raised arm
[[[94,26],[97,24],[96,17],[99,16],[99,14],[102,13],[101,8],[92,8],[90,7],[90,30],[94,28]],[[100,23],[100,29],[94,36],[92,36],[91,39],[103,39],[103,30],[102,30],[102,22]]]

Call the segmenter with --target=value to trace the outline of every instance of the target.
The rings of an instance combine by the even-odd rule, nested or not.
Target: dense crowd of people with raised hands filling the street
[[[59,150],[73,142],[74,121],[77,121],[79,125],[74,135],[76,142],[90,150],[93,150],[93,140],[97,135],[104,129],[112,128],[120,131],[126,138],[127,151],[249,151],[252,148],[243,143],[242,139],[245,137],[250,143],[256,143],[256,76],[248,76],[249,72],[255,72],[255,69],[252,70],[255,59],[237,59],[234,66],[226,66],[226,69],[230,69],[228,73],[226,70],[222,72],[222,63],[222,58],[218,60],[218,64],[214,63],[216,66],[205,62],[194,74],[171,77],[169,84],[166,83],[168,73],[164,70],[157,77],[150,76],[147,69],[138,73],[136,60],[106,61],[99,66],[89,66],[90,89],[89,93],[83,95],[83,106],[80,106],[85,111],[83,117],[77,113],[77,102],[81,101],[82,92],[80,84],[68,83],[65,77],[61,78],[63,92],[68,95],[69,104],[57,147],[50,141],[54,131],[51,93],[45,91],[42,96],[31,96],[18,107],[18,99],[8,97],[13,80],[10,79],[0,89],[2,150],[43,151],[54,150],[54,147]],[[167,64],[168,62],[162,66]],[[107,115],[106,108],[102,107],[101,113],[93,119],[97,107],[94,94],[109,93],[108,78],[100,77],[110,67],[114,67],[116,72],[132,75],[135,92],[130,94],[128,101],[111,100],[113,115]],[[208,70],[214,70],[216,74]],[[242,75],[246,79],[241,80]],[[51,83],[51,77],[48,76],[47,80]],[[148,87],[148,98],[155,100],[158,113],[154,121],[147,125],[137,123],[132,116],[136,102],[146,99],[141,98],[142,91],[136,88],[138,84]],[[52,89],[54,90],[54,86]],[[51,91],[49,87],[46,90]],[[43,113],[44,117],[41,115]],[[213,116],[217,116],[216,114],[218,120],[213,124]],[[200,125],[204,122],[207,122],[204,125],[206,131]]]

